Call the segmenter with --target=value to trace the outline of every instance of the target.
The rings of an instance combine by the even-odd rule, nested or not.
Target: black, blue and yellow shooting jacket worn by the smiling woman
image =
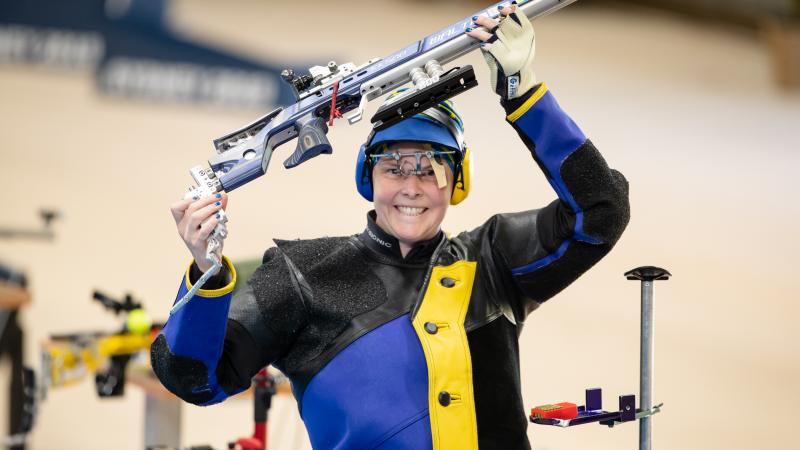
[[[208,405],[272,364],[316,449],[530,448],[518,336],[616,243],[628,186],[546,85],[503,106],[558,199],[440,233],[405,258],[370,213],[360,235],[276,241],[235,295],[226,259],[227,280],[155,340],[162,383]]]

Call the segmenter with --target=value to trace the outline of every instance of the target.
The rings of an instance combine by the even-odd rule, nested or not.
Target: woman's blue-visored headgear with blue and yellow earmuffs
[[[389,98],[396,95],[393,93]],[[372,158],[368,154],[380,146],[393,142],[421,142],[434,147],[442,146],[455,150],[453,191],[450,204],[457,205],[469,195],[470,176],[472,175],[471,152],[463,139],[463,122],[449,100],[428,108],[385,130],[370,133],[367,142],[361,145],[356,160],[356,189],[367,201],[373,201],[372,191]]]

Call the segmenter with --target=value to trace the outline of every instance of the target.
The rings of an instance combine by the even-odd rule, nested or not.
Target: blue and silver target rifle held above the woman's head
[[[519,0],[517,4],[533,20],[575,1]],[[320,154],[332,153],[333,148],[326,134],[335,118],[345,117],[353,125],[362,119],[367,102],[408,82],[413,82],[413,87],[383,105],[372,118],[374,129],[389,127],[474,87],[477,81],[472,67],[445,71],[442,65],[479,48],[480,41],[464,34],[467,27],[473,26],[472,16],[497,18],[499,7],[510,3],[494,4],[384,58],[369,60],[361,66],[331,61],[326,66],[311,67],[308,75],[299,76],[291,70],[285,70],[282,76],[294,88],[297,101],[215,139],[216,154],[208,160],[209,167],[198,166],[191,170],[198,186],[191,188],[187,197],[200,198],[221,191],[230,192],[255,180],[267,172],[273,151],[294,139],[297,139],[297,147],[283,162],[287,169]],[[344,116],[344,113],[350,114]],[[213,272],[209,277],[221,266],[219,255],[213,254],[212,250],[218,248],[219,242],[225,238],[225,222],[227,217],[223,216],[217,230],[209,238],[208,256],[215,267],[206,273]],[[198,280],[193,286],[194,290],[199,289],[204,281],[203,278]],[[193,294],[191,291],[187,293],[173,307],[173,312]]]

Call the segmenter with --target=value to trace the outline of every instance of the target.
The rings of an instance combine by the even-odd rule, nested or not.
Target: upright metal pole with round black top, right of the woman
[[[660,267],[643,266],[625,273],[629,280],[642,282],[642,316],[639,330],[639,450],[652,449],[653,424],[653,281],[672,276]]]

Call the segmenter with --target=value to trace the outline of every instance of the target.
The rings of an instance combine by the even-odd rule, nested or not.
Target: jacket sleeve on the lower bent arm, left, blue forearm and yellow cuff
[[[306,321],[302,294],[277,248],[264,254],[247,283],[237,279],[227,258],[223,261],[228,277],[217,284],[222,287],[199,290],[170,316],[150,350],[161,383],[196,405],[247,389],[261,368],[277,364],[289,351]],[[177,298],[191,289],[191,267]]]

